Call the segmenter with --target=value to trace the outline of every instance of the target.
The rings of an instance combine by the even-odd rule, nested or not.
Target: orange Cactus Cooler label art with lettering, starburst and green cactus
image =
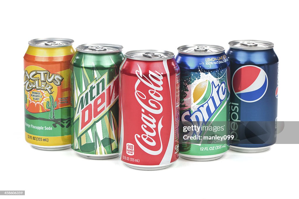
[[[68,70],[69,71],[69,70]],[[50,112],[54,120],[56,109],[70,106],[70,88],[62,75],[66,71],[49,72],[42,67],[28,66],[24,70],[25,106],[29,112]]]

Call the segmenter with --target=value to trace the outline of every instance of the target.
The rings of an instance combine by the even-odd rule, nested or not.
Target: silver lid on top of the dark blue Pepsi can
[[[260,40],[235,40],[228,42],[231,48],[241,50],[267,50],[274,47],[274,44],[269,41]]]

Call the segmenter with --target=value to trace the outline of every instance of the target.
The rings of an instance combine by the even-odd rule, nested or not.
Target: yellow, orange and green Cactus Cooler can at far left
[[[70,61],[74,41],[33,39],[24,56],[25,139],[34,148],[71,147]]]

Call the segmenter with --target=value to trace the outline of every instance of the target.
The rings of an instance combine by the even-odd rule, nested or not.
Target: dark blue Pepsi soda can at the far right
[[[231,149],[262,152],[276,142],[278,58],[269,41],[228,43],[231,63]]]

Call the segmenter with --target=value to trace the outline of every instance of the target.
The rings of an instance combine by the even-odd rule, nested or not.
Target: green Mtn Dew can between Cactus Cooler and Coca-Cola
[[[72,149],[84,158],[118,156],[122,49],[113,44],[83,44],[71,61]]]

